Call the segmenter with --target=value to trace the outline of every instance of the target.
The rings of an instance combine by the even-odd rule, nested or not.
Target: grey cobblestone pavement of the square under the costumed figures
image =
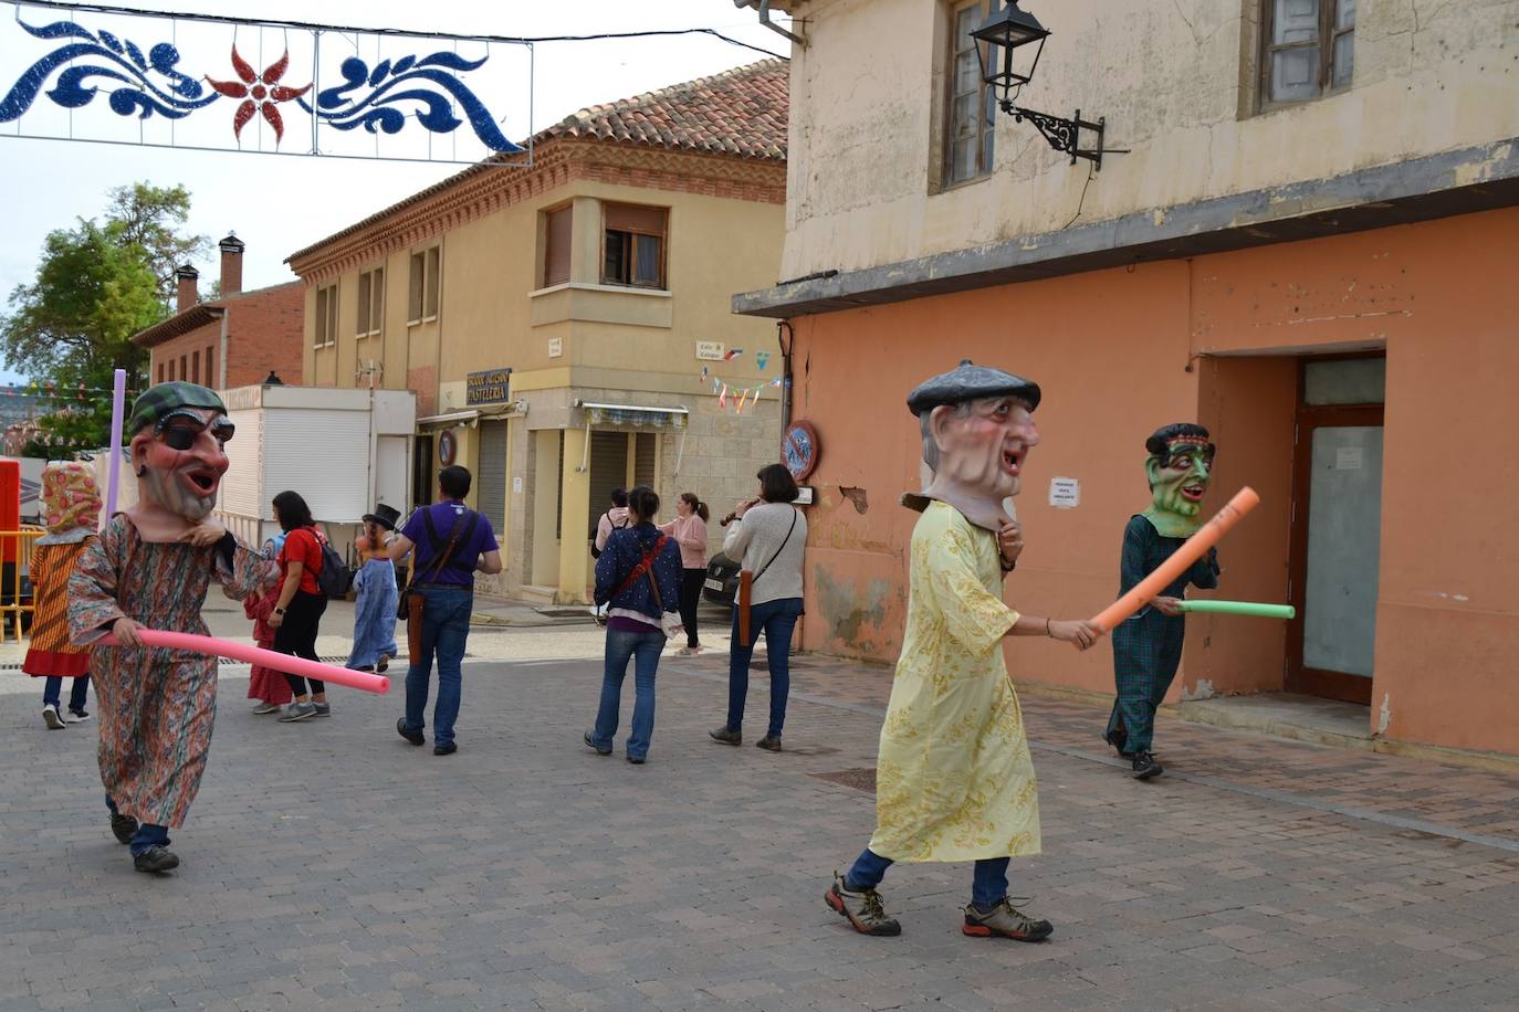
[[[451,757],[395,734],[399,680],[281,725],[226,678],[161,878],[91,727],[0,696],[0,1009],[1519,1009],[1519,777],[1164,721],[1141,784],[1100,710],[1025,696],[1045,854],[1013,891],[1054,938],[965,938],[969,868],[899,865],[872,939],[822,894],[873,825],[848,784],[887,671],[797,658],[770,754],[706,739],[722,657],[667,655],[644,766],[580,743],[595,660],[465,678]]]

